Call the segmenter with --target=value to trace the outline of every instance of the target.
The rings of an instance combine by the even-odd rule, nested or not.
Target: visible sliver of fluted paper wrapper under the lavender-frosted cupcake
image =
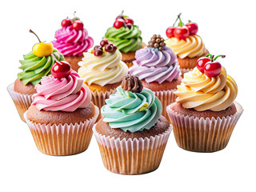
[[[175,90],[158,90],[154,91],[155,96],[157,96],[162,102],[162,116],[164,116],[168,122],[170,122],[169,116],[166,112],[166,107],[170,105],[170,103],[175,102],[177,96],[174,94]]]

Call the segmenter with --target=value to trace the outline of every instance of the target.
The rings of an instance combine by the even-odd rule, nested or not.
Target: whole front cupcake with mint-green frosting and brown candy
[[[106,169],[117,174],[158,169],[171,127],[153,91],[127,75],[101,110],[93,130]]]

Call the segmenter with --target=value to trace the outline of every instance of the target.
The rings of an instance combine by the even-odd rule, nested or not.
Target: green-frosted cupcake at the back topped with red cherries
[[[135,59],[135,51],[146,46],[142,43],[141,34],[133,19],[120,14],[114,25],[106,31],[104,38],[118,47],[122,53],[122,61],[130,67]]]

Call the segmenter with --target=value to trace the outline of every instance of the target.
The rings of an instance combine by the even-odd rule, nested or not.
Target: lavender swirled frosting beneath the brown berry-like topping
[[[145,47],[137,50],[134,65],[129,68],[130,74],[138,76],[146,82],[172,82],[180,74],[177,56],[170,47],[164,46],[163,50]]]

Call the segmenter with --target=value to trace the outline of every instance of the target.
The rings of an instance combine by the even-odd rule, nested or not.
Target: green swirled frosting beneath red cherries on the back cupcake
[[[116,45],[122,53],[127,53],[142,48],[141,34],[142,32],[138,30],[138,26],[131,26],[130,29],[124,26],[119,29],[110,27],[104,38]]]

